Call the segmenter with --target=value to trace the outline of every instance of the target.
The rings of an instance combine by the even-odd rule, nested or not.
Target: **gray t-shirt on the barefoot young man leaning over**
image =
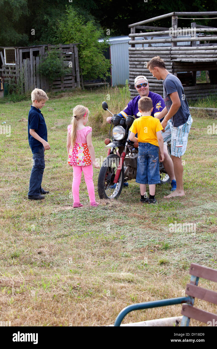
[[[177,113],[173,115],[170,120],[172,121],[172,125],[174,127],[178,127],[186,123],[190,112],[181,81],[177,76],[168,74],[163,81],[163,99],[168,111],[170,110],[170,107],[172,105],[170,94],[173,92],[178,92],[181,106],[179,107]]]

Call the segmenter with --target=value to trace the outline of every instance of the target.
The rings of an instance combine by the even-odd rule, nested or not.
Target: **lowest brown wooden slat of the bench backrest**
[[[184,304],[181,310],[181,314],[187,316],[188,318],[195,319],[201,322],[204,322],[204,324],[207,324],[208,321],[211,321],[213,323],[214,321],[217,321],[217,315],[209,313],[208,311],[197,309],[192,305]]]

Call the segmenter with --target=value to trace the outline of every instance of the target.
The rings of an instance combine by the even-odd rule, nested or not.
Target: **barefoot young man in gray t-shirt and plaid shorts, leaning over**
[[[163,97],[166,106],[157,115],[157,118],[161,119],[164,117],[161,122],[164,130],[168,120],[171,128],[171,158],[176,177],[176,190],[168,196],[164,196],[164,198],[183,196],[185,193],[181,156],[185,154],[188,133],[193,121],[189,113],[188,102],[185,98],[181,81],[166,70],[164,61],[159,56],[153,57],[147,63],[147,68],[157,80],[163,79]]]

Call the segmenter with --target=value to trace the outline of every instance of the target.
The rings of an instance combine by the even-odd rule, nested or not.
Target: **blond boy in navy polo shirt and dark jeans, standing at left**
[[[33,166],[29,181],[28,199],[41,200],[47,194],[41,188],[42,177],[45,169],[44,151],[51,149],[47,142],[47,126],[40,109],[45,105],[48,97],[45,91],[34,89],[31,93],[32,105],[28,117],[28,139],[32,150]]]

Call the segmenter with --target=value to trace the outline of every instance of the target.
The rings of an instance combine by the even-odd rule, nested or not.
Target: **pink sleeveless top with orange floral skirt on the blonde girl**
[[[71,133],[72,125],[68,126],[68,132]],[[68,164],[70,166],[87,166],[92,165],[90,152],[87,148],[87,135],[92,132],[90,126],[85,126],[82,130],[77,130],[75,146],[69,149]]]

